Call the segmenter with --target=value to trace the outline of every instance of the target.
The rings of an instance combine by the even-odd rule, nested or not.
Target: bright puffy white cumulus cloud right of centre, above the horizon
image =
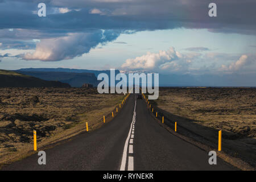
[[[200,55],[196,52],[183,54],[170,47],[167,51],[147,52],[146,55],[135,59],[127,59],[121,69],[122,71],[181,72],[187,70],[192,60]]]

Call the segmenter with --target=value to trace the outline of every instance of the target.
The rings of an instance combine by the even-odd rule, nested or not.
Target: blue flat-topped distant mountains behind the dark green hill
[[[97,76],[106,73],[110,77],[110,70],[96,71],[88,69],[69,69],[69,68],[22,68],[15,72],[30,75],[48,81],[61,81],[73,87],[81,87],[83,84],[97,86],[100,81]],[[115,74],[119,71],[116,70]]]

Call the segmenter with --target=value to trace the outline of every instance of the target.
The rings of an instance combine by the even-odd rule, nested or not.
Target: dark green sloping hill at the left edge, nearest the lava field
[[[60,81],[46,81],[40,78],[23,75],[0,69],[0,87],[71,87]]]

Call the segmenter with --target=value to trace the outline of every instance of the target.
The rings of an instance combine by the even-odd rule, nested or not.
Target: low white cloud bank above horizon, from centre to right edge
[[[224,65],[226,61],[228,65]],[[155,72],[218,75],[222,73],[255,73],[256,55],[254,54],[229,54],[229,53],[181,53],[171,47],[167,51],[158,53],[147,52],[146,55],[127,59],[121,65],[122,72]]]

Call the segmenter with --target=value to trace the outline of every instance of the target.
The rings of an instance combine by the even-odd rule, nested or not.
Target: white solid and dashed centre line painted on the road
[[[134,123],[135,123],[135,118],[136,118],[136,111],[135,111],[136,110],[136,102],[137,101],[136,101],[136,97],[135,97],[133,121],[131,122],[130,131],[129,131],[128,136],[127,136],[126,141],[125,141],[125,147],[123,147],[123,156],[122,156],[122,162],[121,162],[120,171],[125,171],[126,158],[127,158],[127,148],[128,148],[129,140],[130,140],[129,154],[133,154],[133,138],[134,138],[134,134],[131,134],[131,129],[133,129],[133,131],[134,131]],[[134,169],[133,156],[128,156],[128,168],[127,169],[128,169],[128,171],[133,171],[133,169]]]

